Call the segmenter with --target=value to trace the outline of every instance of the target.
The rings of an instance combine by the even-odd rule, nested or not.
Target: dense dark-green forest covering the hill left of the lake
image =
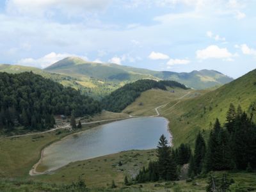
[[[74,88],[32,72],[0,73],[0,129],[50,129],[55,124],[53,115],[69,116],[72,111],[74,116],[91,115],[101,107]]]

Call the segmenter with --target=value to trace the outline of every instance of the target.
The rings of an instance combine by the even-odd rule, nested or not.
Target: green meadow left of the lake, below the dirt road
[[[92,120],[120,118],[121,116],[127,115],[105,111],[102,114],[92,117]],[[72,132],[61,129],[32,136],[0,139],[0,177],[28,177],[29,170],[38,161],[41,150],[45,146],[60,140],[64,136],[67,136],[67,134],[91,129],[97,125],[109,122],[83,125],[83,129],[77,129]]]

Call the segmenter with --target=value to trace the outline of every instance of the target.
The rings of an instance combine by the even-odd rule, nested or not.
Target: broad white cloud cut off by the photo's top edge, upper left
[[[74,15],[86,11],[104,10],[111,0],[8,0],[6,7],[10,13],[52,15],[55,10]]]

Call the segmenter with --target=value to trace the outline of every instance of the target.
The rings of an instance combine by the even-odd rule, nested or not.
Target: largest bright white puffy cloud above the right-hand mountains
[[[232,58],[233,56],[236,56],[236,55],[231,54],[227,50],[227,48],[220,48],[217,45],[210,45],[205,49],[196,51],[196,58],[200,60],[206,60],[210,58],[227,60],[229,58]]]

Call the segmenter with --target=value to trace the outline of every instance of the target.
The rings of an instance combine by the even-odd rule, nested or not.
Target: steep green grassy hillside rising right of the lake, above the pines
[[[199,97],[173,102],[160,109],[161,115],[170,120],[175,145],[193,143],[198,131],[209,130],[216,118],[225,123],[230,103],[239,104],[244,111],[256,101],[256,70]],[[173,107],[172,107],[173,106]],[[172,107],[172,108],[171,108]]]

